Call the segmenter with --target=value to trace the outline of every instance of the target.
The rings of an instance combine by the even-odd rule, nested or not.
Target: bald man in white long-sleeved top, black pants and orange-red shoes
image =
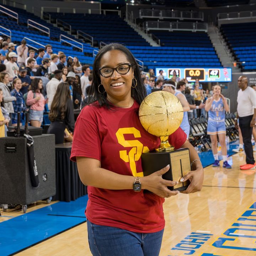
[[[241,170],[255,169],[255,160],[251,144],[252,127],[256,121],[256,94],[254,89],[248,86],[247,77],[239,76],[238,78],[238,116],[239,127],[241,129],[242,138],[244,141],[246,164],[240,165]],[[238,129],[238,121],[235,120],[235,127]]]

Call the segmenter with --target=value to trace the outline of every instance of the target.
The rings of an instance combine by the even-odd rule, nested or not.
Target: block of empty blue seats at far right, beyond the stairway
[[[225,24],[220,30],[244,70],[256,70],[256,22]]]

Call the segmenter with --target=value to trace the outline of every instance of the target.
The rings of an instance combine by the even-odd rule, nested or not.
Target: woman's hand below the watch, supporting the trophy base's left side
[[[179,193],[179,191],[171,191],[167,186],[177,185],[177,181],[168,181],[162,178],[162,175],[165,174],[170,169],[170,165],[167,165],[163,169],[154,172],[153,174],[145,177],[141,177],[140,181],[142,184],[142,189],[149,190],[154,194],[160,197],[171,197]]]

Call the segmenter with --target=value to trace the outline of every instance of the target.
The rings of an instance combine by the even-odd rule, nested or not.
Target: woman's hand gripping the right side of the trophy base
[[[204,178],[203,167],[198,167],[196,170],[188,172],[186,175],[184,175],[180,179],[180,181],[184,182],[186,180],[189,180],[190,185],[185,191],[181,191],[181,193],[190,194],[197,191],[201,191],[203,186],[203,178]]]

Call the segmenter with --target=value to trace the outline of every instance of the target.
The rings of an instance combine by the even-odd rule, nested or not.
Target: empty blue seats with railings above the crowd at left
[[[25,10],[14,8],[14,7],[9,7],[9,6],[7,6],[7,8],[17,11],[19,14],[19,24],[17,24],[17,22],[15,20],[10,19],[9,16],[7,16],[7,15],[0,16],[1,24],[4,24],[4,27],[10,29],[12,32],[12,42],[20,43],[20,41],[24,37],[27,37],[27,38],[30,38],[30,39],[32,39],[38,43],[41,43],[43,45],[51,44],[53,46],[53,53],[58,53],[58,51],[62,51],[67,56],[68,55],[71,55],[71,56],[76,55],[79,58],[81,63],[92,65],[92,63],[94,61],[94,58],[92,57],[92,53],[93,53],[93,50],[96,48],[91,47],[87,43],[83,43],[82,41],[80,41],[80,40],[74,38],[73,36],[70,36],[66,32],[60,30],[59,28],[54,27],[52,24],[49,24],[49,23],[41,20],[37,16],[34,16],[33,14],[26,12]],[[41,33],[38,30],[33,30],[33,28],[30,28],[28,30],[28,28],[27,28],[28,18],[30,18],[31,20],[33,20],[35,22],[40,23],[43,26],[49,27],[50,28],[50,38],[45,33],[43,33],[43,32]],[[4,30],[2,28],[0,28],[0,31],[6,33],[6,30]],[[65,36],[73,38],[76,41],[79,41],[80,43],[82,43],[83,47],[84,47],[84,53],[79,51],[78,48],[75,48],[75,47],[73,48],[69,44],[63,44],[63,43],[57,41],[59,39],[60,34],[64,34]],[[81,47],[81,45],[79,45],[73,41],[70,41],[66,38],[65,38],[65,40],[73,43],[74,45]],[[41,47],[38,44],[33,43],[29,40],[27,40],[27,43],[36,48]]]

